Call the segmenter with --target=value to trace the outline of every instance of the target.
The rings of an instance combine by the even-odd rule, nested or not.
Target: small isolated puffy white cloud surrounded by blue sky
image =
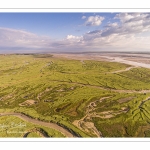
[[[100,26],[104,19],[105,19],[104,17],[101,17],[99,15],[90,16],[87,18],[85,25],[86,26]]]

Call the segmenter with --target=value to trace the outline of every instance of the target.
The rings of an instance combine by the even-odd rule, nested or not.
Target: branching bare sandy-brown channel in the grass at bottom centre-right
[[[79,120],[75,120],[73,122],[73,124],[75,126],[77,126],[79,129],[81,129],[84,132],[87,132],[89,134],[94,134],[97,137],[103,137],[102,133],[100,131],[97,130],[97,128],[95,127],[94,123],[92,122],[92,118],[96,117],[96,118],[112,118],[115,117],[118,114],[121,113],[127,113],[128,112],[128,108],[126,107],[122,107],[119,110],[108,110],[108,111],[103,111],[100,113],[94,112],[94,110],[96,109],[97,103],[101,103],[102,101],[108,99],[108,98],[112,98],[112,96],[108,96],[108,97],[102,97],[99,100],[96,100],[94,102],[91,102],[85,110],[85,116]]]

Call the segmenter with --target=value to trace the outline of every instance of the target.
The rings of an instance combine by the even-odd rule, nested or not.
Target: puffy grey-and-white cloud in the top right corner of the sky
[[[150,31],[150,14],[140,13],[120,13],[115,16],[119,23],[108,24],[103,30],[102,36],[111,34],[127,35]]]

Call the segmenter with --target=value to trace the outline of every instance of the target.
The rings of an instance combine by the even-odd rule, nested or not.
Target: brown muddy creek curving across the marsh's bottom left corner
[[[1,116],[11,116],[11,115],[16,116],[18,118],[21,118],[22,120],[30,122],[30,123],[34,123],[34,124],[37,124],[37,125],[42,125],[42,126],[45,126],[45,127],[55,129],[55,130],[61,132],[66,137],[74,137],[74,135],[72,135],[70,132],[68,132],[67,130],[65,130],[64,128],[58,126],[55,123],[43,122],[43,121],[39,121],[39,120],[36,120],[36,119],[32,119],[32,118],[29,118],[26,115],[21,114],[21,113],[14,113],[14,112],[12,112],[12,113],[0,113],[0,117]]]

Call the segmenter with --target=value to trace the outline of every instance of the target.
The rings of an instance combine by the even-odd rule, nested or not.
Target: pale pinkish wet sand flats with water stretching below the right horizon
[[[150,69],[150,54],[124,54],[124,53],[85,53],[85,54],[53,54],[57,58],[75,60],[97,60],[128,64],[134,67]],[[142,59],[142,62],[140,60]]]

